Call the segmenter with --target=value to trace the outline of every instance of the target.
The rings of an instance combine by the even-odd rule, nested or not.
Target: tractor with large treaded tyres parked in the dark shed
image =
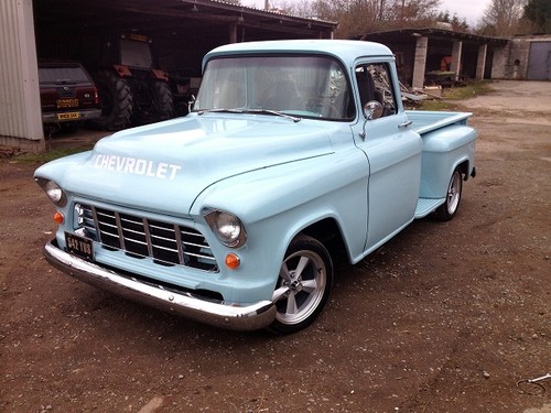
[[[101,117],[94,120],[98,129],[120,130],[173,117],[169,76],[155,68],[148,36],[121,35],[95,46],[86,53],[101,107]]]

